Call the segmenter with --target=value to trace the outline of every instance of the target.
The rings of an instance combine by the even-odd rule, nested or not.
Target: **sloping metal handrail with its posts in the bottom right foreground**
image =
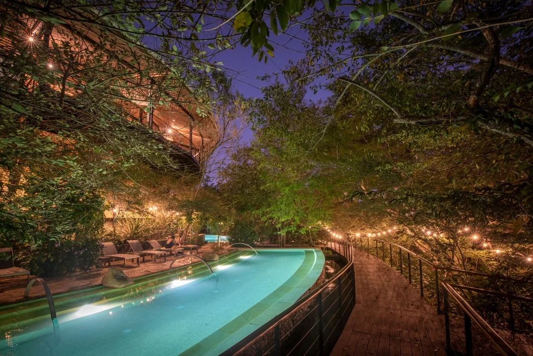
[[[449,284],[442,282],[442,287],[444,287],[444,314],[445,314],[445,324],[446,324],[446,347],[451,351],[451,342],[450,342],[450,320],[449,320],[449,301],[448,293],[455,299],[457,304],[463,309],[465,317],[465,342],[466,342],[466,354],[473,354],[473,345],[472,345],[472,320],[479,326],[482,333],[487,336],[492,344],[498,349],[499,352],[505,356],[518,356],[518,353],[509,346],[505,340],[500,337],[494,329],[488,325],[488,323],[481,318],[481,316],[475,312],[475,310],[468,304],[456,290],[451,287]]]

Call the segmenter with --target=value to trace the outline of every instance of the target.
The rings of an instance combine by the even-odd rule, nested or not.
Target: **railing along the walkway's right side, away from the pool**
[[[508,347],[508,349],[505,349],[508,353],[503,353],[504,355],[515,355],[515,350],[521,350],[521,348],[526,345],[520,335],[515,335],[514,333],[531,334],[531,325],[527,320],[531,320],[530,317],[533,315],[533,298],[494,292],[492,290],[471,286],[447,284],[443,280],[449,280],[449,278],[445,278],[443,273],[450,272],[454,277],[471,276],[493,281],[502,280],[512,284],[523,284],[524,281],[500,276],[498,274],[486,274],[440,266],[417,255],[406,247],[389,241],[358,237],[353,242],[355,242],[354,245],[356,247],[359,246],[359,248],[365,252],[374,255],[377,258],[381,258],[383,262],[389,262],[392,268],[399,270],[402,276],[409,280],[410,284],[414,284],[415,287],[419,289],[421,297],[425,298],[426,301],[435,306],[439,314],[442,313],[441,295],[446,293],[445,298],[447,298],[447,300],[445,300],[446,305],[443,312],[446,317],[447,347],[449,351],[460,351],[466,355],[502,353],[501,348],[504,346],[501,346],[500,344],[503,341],[503,338],[496,334],[494,329],[492,329],[487,323],[487,320],[490,320],[493,324],[497,324],[498,328],[511,331],[509,333],[502,330],[502,333],[505,334],[505,339],[510,341],[512,345],[511,347],[504,342]],[[411,261],[413,259],[415,261]],[[414,268],[413,264],[415,265]],[[450,288],[453,289],[453,294],[450,292]],[[463,296],[459,294],[457,290],[460,290]],[[450,306],[452,304],[450,303],[449,295],[453,296],[454,300],[457,301],[457,303],[453,304],[454,308]],[[485,308],[487,310],[483,313],[482,317],[465,301],[465,295],[469,296],[469,300],[476,301],[476,304],[479,304],[480,297],[487,299],[487,302],[490,303],[490,307]],[[505,303],[495,302],[494,297],[503,299]],[[498,306],[503,305],[504,310],[496,308],[495,304],[498,304]],[[468,313],[465,309],[467,309]],[[484,308],[480,307],[478,309],[483,310]],[[490,309],[490,311],[488,311],[488,309]],[[518,309],[522,317],[526,316],[526,318],[524,318],[526,320],[521,322],[516,320],[516,309]],[[475,313],[475,317],[469,313],[472,315]],[[449,317],[450,314],[453,315],[453,318]],[[464,325],[457,325],[457,318],[464,318]],[[474,333],[472,332],[472,320],[474,320],[475,323]],[[451,328],[454,330],[455,335],[461,335],[460,339],[452,339],[451,343],[450,321],[454,324]],[[526,345],[526,347],[528,346]]]

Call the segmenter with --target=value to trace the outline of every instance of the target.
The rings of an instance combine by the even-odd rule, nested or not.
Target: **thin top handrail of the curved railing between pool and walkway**
[[[351,252],[352,245],[350,244],[350,242],[344,239],[342,240],[345,242],[346,245],[350,246],[349,250]],[[230,356],[230,355],[237,356],[243,353],[244,351],[246,351],[248,347],[252,346],[257,341],[257,339],[261,338],[262,336],[264,336],[266,333],[268,333],[271,330],[274,330],[274,339],[276,339],[277,342],[279,342],[279,339],[280,339],[279,325],[282,321],[290,317],[290,315],[292,315],[294,311],[296,311],[298,308],[300,308],[300,306],[302,306],[306,302],[310,301],[312,298],[315,298],[317,296],[321,298],[321,293],[327,286],[332,284],[332,282],[335,282],[337,279],[341,278],[344,272],[348,271],[349,269],[353,269],[352,257],[351,256],[349,257],[343,256],[343,257],[346,258],[346,261],[348,262],[348,264],[346,264],[340,271],[338,271],[335,274],[335,276],[333,276],[329,280],[322,283],[318,288],[314,289],[311,293],[309,293],[308,295],[298,300],[296,303],[294,303],[284,312],[278,314],[277,317],[263,324],[262,327],[260,327],[259,329],[256,329],[252,334],[249,334],[247,337],[245,337],[240,342],[230,347],[230,349],[221,353],[219,356]],[[355,293],[355,290],[354,290],[354,293]],[[276,349],[276,347],[279,347],[279,345],[277,346],[274,345],[273,347],[274,349]],[[274,352],[274,354],[279,354],[279,349],[278,349],[278,353]]]

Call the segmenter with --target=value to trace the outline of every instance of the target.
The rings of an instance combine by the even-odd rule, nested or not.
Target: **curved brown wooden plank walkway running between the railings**
[[[332,356],[446,355],[444,318],[399,272],[353,250],[357,301]]]

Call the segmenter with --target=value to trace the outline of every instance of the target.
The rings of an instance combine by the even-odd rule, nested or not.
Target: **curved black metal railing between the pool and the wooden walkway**
[[[329,355],[356,303],[352,245],[344,239],[326,248],[346,265],[324,284],[221,355]]]

